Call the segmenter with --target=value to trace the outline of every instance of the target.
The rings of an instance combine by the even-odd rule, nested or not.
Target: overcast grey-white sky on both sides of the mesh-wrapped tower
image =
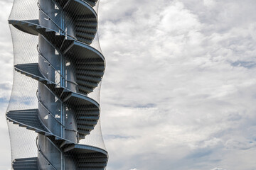
[[[0,0],[0,169],[10,169],[11,0]],[[107,170],[256,169],[256,1],[101,0]]]

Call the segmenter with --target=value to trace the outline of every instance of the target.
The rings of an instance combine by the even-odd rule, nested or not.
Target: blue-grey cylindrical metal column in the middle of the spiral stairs
[[[68,33],[73,33],[70,19],[68,16],[65,17],[62,9],[58,8],[53,1],[39,0],[39,8],[39,24],[41,26],[56,30],[56,35],[63,33],[62,30],[68,30]],[[65,24],[65,18],[68,19],[68,24]],[[68,27],[65,27],[65,25]],[[50,38],[54,39],[55,35]],[[75,84],[71,83],[75,81],[75,67],[73,67],[72,62],[68,59],[66,60],[62,52],[55,49],[55,46],[40,34],[38,36],[38,49],[41,52],[38,64],[43,76],[49,81],[58,84],[55,88],[63,87],[77,92]],[[58,98],[60,96],[55,96],[41,82],[38,82],[38,96],[41,100],[41,103],[38,103],[39,118],[41,118],[46,128],[60,138],[78,143],[75,113],[68,106],[65,106],[65,103]],[[48,137],[38,135],[38,146],[43,153],[38,152],[40,169],[52,169],[53,167],[61,170],[75,169],[73,159],[65,158],[64,153]]]

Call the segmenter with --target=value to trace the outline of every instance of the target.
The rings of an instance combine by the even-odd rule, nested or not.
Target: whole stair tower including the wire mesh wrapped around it
[[[12,169],[105,169],[97,0],[14,0]]]

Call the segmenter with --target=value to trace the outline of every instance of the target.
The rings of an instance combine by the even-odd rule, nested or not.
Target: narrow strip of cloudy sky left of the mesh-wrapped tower
[[[7,18],[11,11],[11,1],[0,1],[0,134],[1,134],[1,154],[0,169],[11,169],[11,148],[9,142],[9,132],[5,118],[5,111],[8,106],[11,94],[11,85],[13,79],[13,56],[11,33]]]

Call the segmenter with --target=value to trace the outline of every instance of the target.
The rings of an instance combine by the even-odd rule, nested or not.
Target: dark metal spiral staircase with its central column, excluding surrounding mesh
[[[99,2],[36,3],[38,19],[9,20],[23,33],[38,36],[38,63],[14,65],[16,72],[38,81],[38,108],[6,113],[9,122],[38,133],[38,157],[14,159],[12,169],[103,170],[107,151],[80,144],[100,118],[100,104],[88,96],[105,72],[105,58],[91,46],[97,33],[93,7]]]

